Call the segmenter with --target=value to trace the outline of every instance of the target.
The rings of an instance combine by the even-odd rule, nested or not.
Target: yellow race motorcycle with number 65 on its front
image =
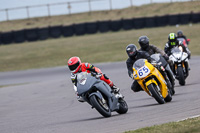
[[[133,64],[133,76],[141,88],[159,104],[172,100],[164,77],[146,59],[139,59]]]

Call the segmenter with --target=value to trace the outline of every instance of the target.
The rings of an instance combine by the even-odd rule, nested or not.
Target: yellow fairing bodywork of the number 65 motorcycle
[[[164,77],[147,60],[145,60],[145,66],[148,67],[148,69],[150,70],[150,73],[146,77],[140,78],[139,75],[138,75],[138,71],[133,68],[134,79],[137,80],[137,82],[142,87],[142,89],[144,91],[146,91],[149,95],[150,95],[150,93],[149,93],[147,86],[150,85],[150,84],[158,85],[161,89],[161,95],[163,96],[163,98],[166,98],[166,96],[168,95],[168,88],[167,88]],[[149,78],[150,76],[152,76],[154,78]],[[149,79],[147,81],[145,81],[145,79],[147,79],[147,78],[149,78]],[[157,79],[158,82],[155,79]]]

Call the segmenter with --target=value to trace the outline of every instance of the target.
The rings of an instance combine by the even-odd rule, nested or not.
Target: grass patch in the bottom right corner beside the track
[[[180,122],[170,122],[167,124],[145,127],[125,133],[199,133],[200,117],[188,119]]]

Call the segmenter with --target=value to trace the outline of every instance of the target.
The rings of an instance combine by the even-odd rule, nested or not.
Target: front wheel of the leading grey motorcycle
[[[92,106],[104,117],[110,117],[111,111],[107,103],[103,102],[99,97],[96,95],[92,95],[90,97],[90,103]]]

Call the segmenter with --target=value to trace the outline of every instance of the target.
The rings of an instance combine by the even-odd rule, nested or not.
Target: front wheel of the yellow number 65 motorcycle
[[[155,100],[159,103],[159,104],[164,104],[165,100],[162,97],[162,95],[160,94],[160,92],[158,91],[158,88],[155,84],[150,84],[147,86],[147,88],[149,89],[150,93],[152,94],[152,96],[155,98]]]

